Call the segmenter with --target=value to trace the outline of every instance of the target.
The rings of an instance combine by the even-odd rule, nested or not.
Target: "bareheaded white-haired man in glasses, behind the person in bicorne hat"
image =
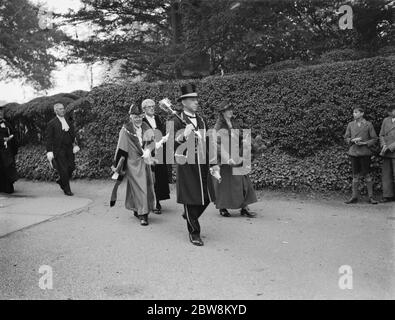
[[[142,102],[141,107],[144,111],[144,123],[153,130],[159,130],[161,136],[166,136],[166,125],[163,120],[155,115],[155,102],[151,99],[146,99]],[[157,141],[158,142],[158,141]],[[166,165],[166,146],[163,145],[162,155],[163,160],[161,163],[152,166],[152,171],[155,177],[155,197],[156,197],[156,208],[154,213],[161,214],[162,206],[160,204],[161,200],[170,199],[170,189],[169,189],[169,174]]]

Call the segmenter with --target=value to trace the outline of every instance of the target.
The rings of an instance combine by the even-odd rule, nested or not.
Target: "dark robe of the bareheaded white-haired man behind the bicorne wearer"
[[[144,123],[150,128],[153,129],[147,120],[144,117]],[[155,115],[155,122],[157,126],[157,130],[162,133],[164,137],[166,135],[166,125],[162,121],[162,119]],[[158,141],[156,141],[158,142]],[[152,171],[155,175],[155,196],[157,201],[170,199],[170,188],[169,188],[169,169],[166,164],[166,145],[163,146],[163,164],[156,164],[152,166]]]

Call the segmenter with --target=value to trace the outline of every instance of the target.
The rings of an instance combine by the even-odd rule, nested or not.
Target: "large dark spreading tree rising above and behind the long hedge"
[[[66,18],[89,23],[88,40],[71,39],[84,61],[123,60],[127,75],[174,79],[259,70],[305,61],[333,49],[375,51],[393,36],[390,0],[353,0],[354,30],[340,30],[338,0],[83,0]],[[187,71],[187,72],[186,72]],[[199,71],[199,70],[198,70]],[[197,72],[199,74],[199,72]]]

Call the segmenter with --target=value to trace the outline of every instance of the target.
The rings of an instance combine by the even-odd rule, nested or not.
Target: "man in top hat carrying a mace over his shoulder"
[[[184,205],[185,218],[189,232],[189,239],[196,246],[203,246],[200,237],[199,217],[213,200],[213,187],[209,175],[209,148],[202,148],[206,141],[206,121],[197,114],[198,95],[193,84],[181,87],[181,96],[178,98],[183,106],[180,118],[173,118],[175,132],[175,157],[177,163],[177,202]],[[178,149],[182,144],[194,144],[194,154],[187,155],[189,150]],[[203,150],[204,149],[204,150]],[[203,157],[202,152],[206,152]],[[188,159],[195,159],[189,163]]]

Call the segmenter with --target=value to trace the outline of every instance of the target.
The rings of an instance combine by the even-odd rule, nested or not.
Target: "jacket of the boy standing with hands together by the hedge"
[[[361,141],[366,142],[367,144],[357,145],[351,142],[351,140],[355,138],[362,138]],[[358,126],[357,121],[352,121],[347,125],[344,140],[348,145],[350,145],[348,150],[348,154],[350,156],[363,157],[373,155],[371,148],[377,143],[378,138],[373,124],[363,119],[360,126]]]

